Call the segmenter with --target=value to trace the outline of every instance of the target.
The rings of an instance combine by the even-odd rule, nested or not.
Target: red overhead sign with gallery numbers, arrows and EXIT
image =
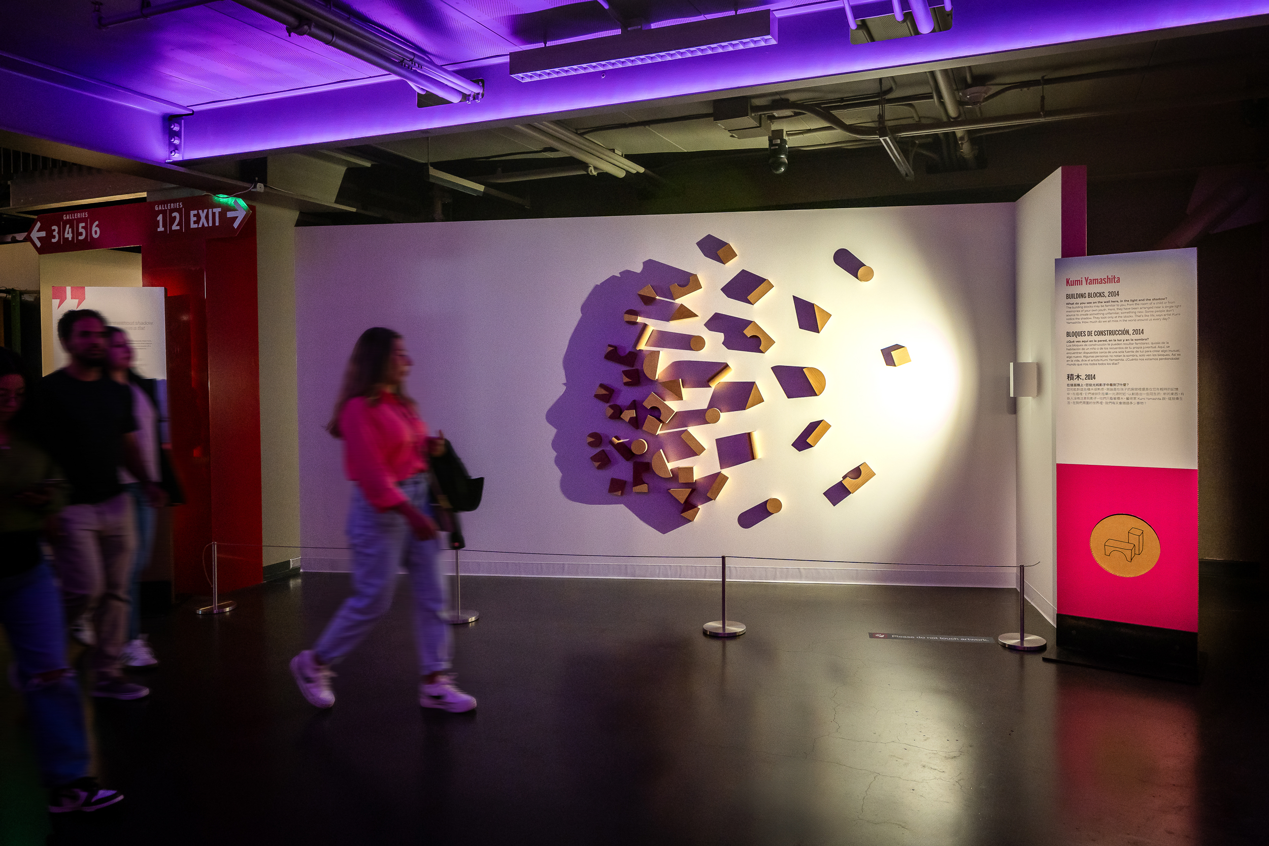
[[[250,214],[251,208],[237,197],[181,197],[41,214],[27,231],[27,240],[43,255],[189,238],[230,238],[242,231]]]

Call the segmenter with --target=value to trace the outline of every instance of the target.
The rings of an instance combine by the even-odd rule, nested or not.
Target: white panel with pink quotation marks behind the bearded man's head
[[[102,312],[107,325],[128,334],[135,351],[132,369],[148,379],[168,378],[168,325],[165,318],[166,288],[95,288],[53,285],[52,325],[44,331],[57,336],[57,321],[76,308]],[[55,367],[65,367],[66,350],[53,348]]]

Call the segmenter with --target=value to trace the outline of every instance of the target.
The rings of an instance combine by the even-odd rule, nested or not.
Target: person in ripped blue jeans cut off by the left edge
[[[88,733],[75,671],[66,661],[66,621],[39,540],[66,502],[61,471],[11,425],[25,400],[25,372],[0,348],[0,625],[22,691],[52,813],[96,810],[123,799],[88,775]]]

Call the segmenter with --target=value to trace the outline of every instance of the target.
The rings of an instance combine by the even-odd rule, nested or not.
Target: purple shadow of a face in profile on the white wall
[[[667,534],[690,523],[680,515],[684,505],[670,496],[669,490],[671,487],[699,488],[702,479],[680,485],[675,478],[662,478],[654,472],[645,472],[641,476],[642,482],[647,485],[647,492],[636,493],[632,490],[634,487],[634,462],[650,462],[659,450],[664,450],[666,459],[673,464],[676,460],[693,457],[694,453],[685,445],[681,427],[675,426],[657,435],[642,427],[648,413],[652,413],[643,406],[645,398],[648,393],[665,396],[657,384],[643,374],[642,358],[645,354],[640,354],[633,368],[629,364],[605,360],[604,354],[609,345],[619,348],[619,353],[629,353],[637,342],[641,327],[626,321],[627,309],[633,309],[640,316],[652,320],[664,320],[655,311],[656,308],[664,309],[662,303],[646,304],[641,302],[638,292],[642,288],[652,285],[660,297],[669,297],[669,287],[685,284],[690,275],[687,270],[647,260],[638,271],[623,270],[595,285],[581,304],[581,316],[565,349],[563,393],[551,405],[546,415],[547,422],[556,430],[551,446],[556,454],[556,467],[560,469],[560,491],[565,497],[585,505],[629,509],[634,516],[661,534]],[[681,354],[675,351],[673,358],[679,358],[679,355]],[[692,353],[688,355],[694,356]],[[638,384],[623,384],[623,370],[632,369],[638,372]],[[627,375],[629,374],[627,373]],[[595,391],[600,384],[613,388],[612,398],[607,401],[595,398]],[[626,408],[631,402],[634,402],[637,407],[637,429],[619,417],[614,420],[605,415],[609,403]],[[599,446],[586,444],[586,436],[590,433],[602,435]],[[626,441],[627,446],[636,440],[643,440],[647,443],[647,452],[627,460],[610,444],[610,439],[614,436]],[[609,463],[596,469],[591,455],[600,449],[608,454]],[[608,492],[609,481],[614,478],[626,482],[622,496]],[[693,501],[698,501],[702,495],[703,491],[698,490],[692,497]]]

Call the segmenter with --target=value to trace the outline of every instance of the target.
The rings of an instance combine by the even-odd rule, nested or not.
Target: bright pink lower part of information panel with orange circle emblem
[[[1157,534],[1157,563],[1117,576],[1090,544],[1104,517],[1128,514]],[[1132,538],[1107,556],[1131,558]],[[1099,542],[1105,554],[1109,548]],[[1118,623],[1198,632],[1198,471],[1159,467],[1057,465],[1057,611]]]

